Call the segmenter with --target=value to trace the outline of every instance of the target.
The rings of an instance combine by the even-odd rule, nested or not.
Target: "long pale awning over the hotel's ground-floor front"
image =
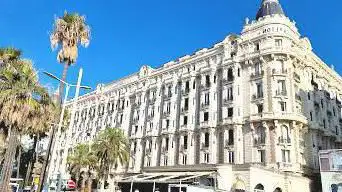
[[[122,178],[119,183],[179,183],[187,182],[202,176],[214,176],[216,172],[156,172],[141,173]]]

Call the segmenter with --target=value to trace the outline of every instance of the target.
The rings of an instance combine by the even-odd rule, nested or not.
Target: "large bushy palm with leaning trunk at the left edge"
[[[0,121],[7,127],[9,139],[0,191],[8,190],[18,136],[45,132],[56,115],[56,106],[39,84],[31,61],[19,57],[5,59],[0,68]]]

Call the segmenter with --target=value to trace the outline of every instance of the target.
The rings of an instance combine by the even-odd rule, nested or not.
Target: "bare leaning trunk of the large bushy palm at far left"
[[[13,160],[15,157],[15,152],[17,149],[17,135],[18,130],[13,128],[11,129],[10,138],[8,141],[8,149],[6,150],[5,154],[5,162],[4,166],[2,168],[2,182],[0,184],[0,191],[6,192],[8,191],[9,182],[12,176],[12,170],[13,170]]]

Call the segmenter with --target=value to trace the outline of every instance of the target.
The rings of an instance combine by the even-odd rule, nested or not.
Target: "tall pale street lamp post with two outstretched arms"
[[[46,74],[47,76],[59,81],[60,83],[63,83],[65,86],[66,86],[66,91],[65,91],[65,96],[64,96],[64,100],[63,100],[63,103],[62,103],[62,111],[61,111],[61,115],[60,115],[60,118],[59,118],[59,123],[58,123],[58,127],[57,127],[57,134],[55,138],[57,139],[52,139],[54,136],[52,136],[52,138],[50,138],[50,142],[51,144],[49,145],[49,149],[48,149],[48,153],[47,153],[47,160],[49,161],[49,156],[50,156],[50,152],[52,150],[52,156],[51,156],[51,159],[50,161],[53,161],[55,159],[55,156],[56,156],[56,151],[57,149],[59,148],[59,137],[60,137],[60,134],[61,134],[61,128],[63,126],[63,120],[64,120],[64,113],[65,113],[65,103],[67,102],[67,99],[68,99],[68,94],[69,94],[69,90],[70,90],[70,87],[76,87],[76,92],[75,92],[75,101],[77,100],[78,96],[79,96],[79,91],[80,89],[86,89],[86,90],[90,90],[91,87],[89,86],[81,86],[81,80],[82,80],[82,75],[83,75],[83,69],[80,68],[79,70],[79,73],[78,73],[78,80],[77,80],[77,84],[74,85],[74,84],[70,84],[70,83],[67,83],[65,81],[63,81],[62,79],[56,77],[55,75],[53,75],[52,73],[49,73],[49,72],[43,72],[44,74]],[[54,141],[53,141],[54,140]],[[53,145],[53,146],[52,146]],[[48,169],[48,173],[50,173],[50,166],[51,164],[49,163],[49,169]],[[47,167],[47,166],[46,166]],[[43,174],[45,175],[46,174],[46,168],[45,167],[45,170],[43,170]],[[59,172],[60,174],[60,172]],[[50,177],[50,175],[48,175]],[[45,182],[45,177],[43,177],[44,179],[41,181],[41,182]],[[61,179],[61,176],[59,175],[58,177],[59,179]],[[59,181],[58,182],[58,186],[57,186],[57,191],[59,192],[61,190],[61,184],[62,182]]]

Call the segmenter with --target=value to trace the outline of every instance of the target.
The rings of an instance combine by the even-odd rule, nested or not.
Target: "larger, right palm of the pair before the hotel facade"
[[[125,133],[118,128],[107,128],[99,133],[93,145],[99,158],[98,175],[106,180],[111,170],[129,161],[129,142]],[[114,177],[114,186],[116,184]],[[115,190],[115,189],[114,189]]]

